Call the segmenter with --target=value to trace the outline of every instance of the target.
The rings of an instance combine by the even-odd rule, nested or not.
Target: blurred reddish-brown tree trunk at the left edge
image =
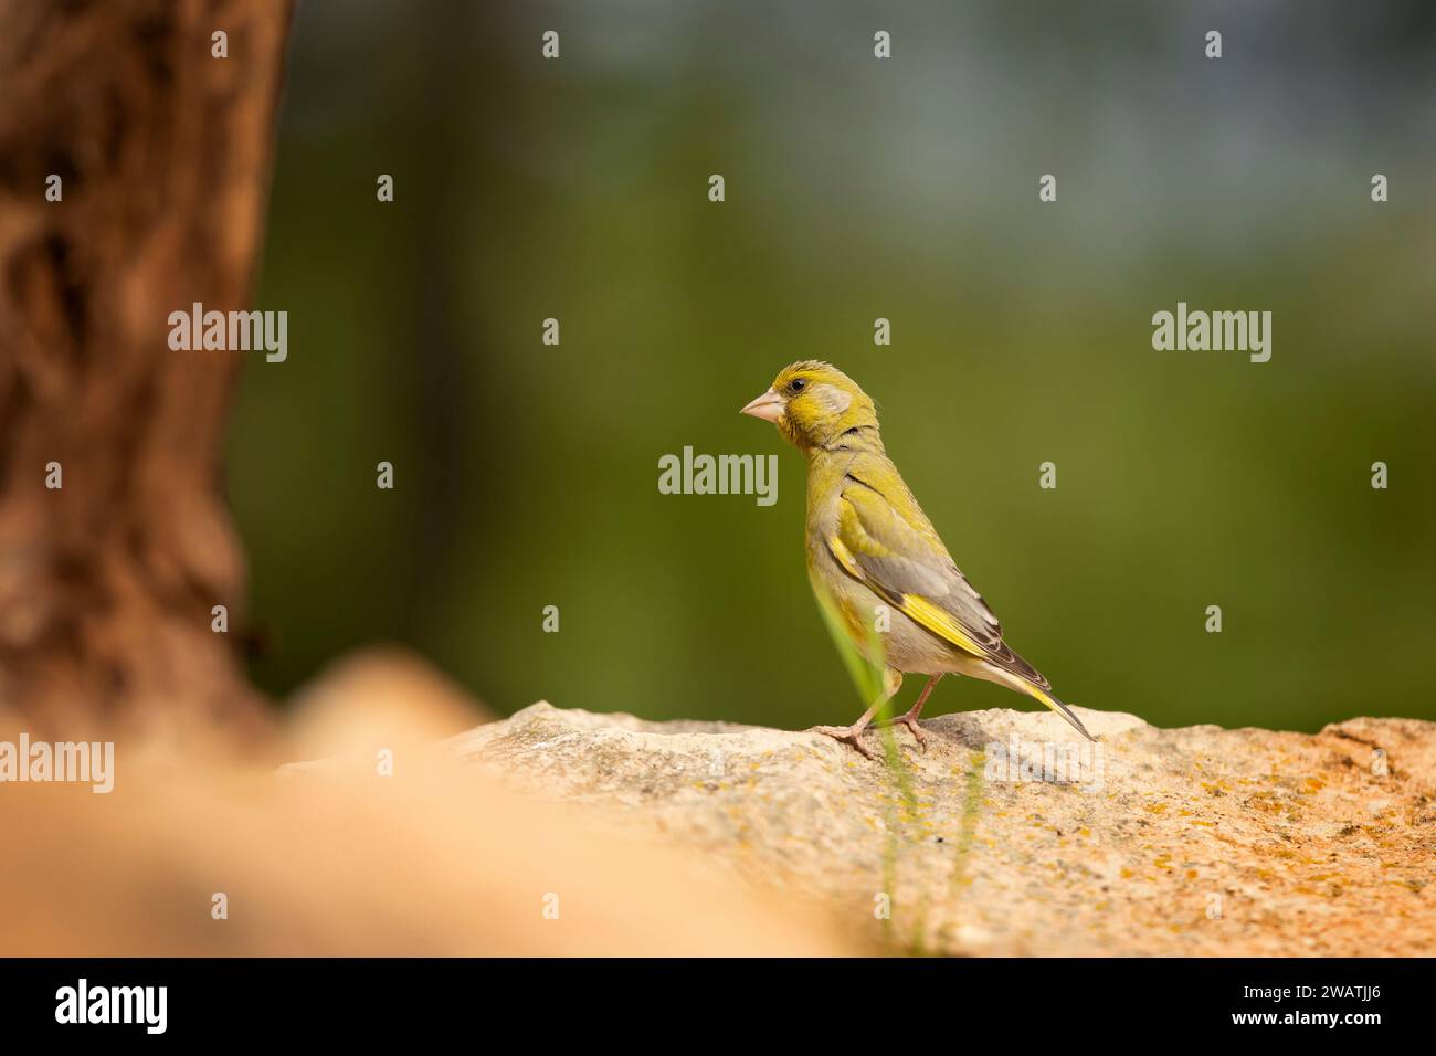
[[[211,631],[243,603],[221,440],[254,353],[171,351],[168,316],[248,307],[289,22],[0,0],[0,708],[32,730],[263,726]]]

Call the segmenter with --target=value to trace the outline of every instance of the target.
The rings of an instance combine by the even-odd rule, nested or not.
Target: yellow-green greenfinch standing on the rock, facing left
[[[857,382],[830,363],[783,369],[742,414],[778,427],[808,460],[807,566],[813,588],[831,598],[843,629],[869,659],[885,665],[885,695],[852,726],[814,727],[873,759],[862,734],[905,674],[928,675],[918,703],[890,721],[926,749],[918,715],[946,674],[999,682],[1035,697],[1076,730],[1091,734],[1051,693],[1037,668],[1002,641],[1002,626],[948,555],[932,522],[893,466],[877,411]],[[886,632],[873,655],[873,629],[886,606]]]

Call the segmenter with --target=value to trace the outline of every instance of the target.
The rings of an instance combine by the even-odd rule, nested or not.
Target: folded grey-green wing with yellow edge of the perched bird
[[[1051,688],[1002,642],[1002,625],[952,562],[906,487],[889,497],[852,473],[844,484],[827,547],[847,575],[949,645]],[[909,507],[906,516],[902,507]]]

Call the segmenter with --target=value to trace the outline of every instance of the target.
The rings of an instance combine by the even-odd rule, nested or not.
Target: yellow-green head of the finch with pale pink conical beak
[[[831,447],[849,432],[877,440],[872,398],[836,366],[813,359],[784,366],[773,386],[742,408],[742,414],[771,421],[804,451]]]

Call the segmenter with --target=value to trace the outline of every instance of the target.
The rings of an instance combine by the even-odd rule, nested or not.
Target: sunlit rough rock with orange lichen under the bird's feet
[[[1436,950],[1436,723],[1159,730],[1078,708],[869,734],[648,723],[540,703],[449,741],[777,884],[854,937],[939,954],[1390,955]],[[1045,759],[1044,759],[1045,757]],[[1044,766],[1045,761],[1045,766]],[[883,911],[889,909],[885,918]]]

